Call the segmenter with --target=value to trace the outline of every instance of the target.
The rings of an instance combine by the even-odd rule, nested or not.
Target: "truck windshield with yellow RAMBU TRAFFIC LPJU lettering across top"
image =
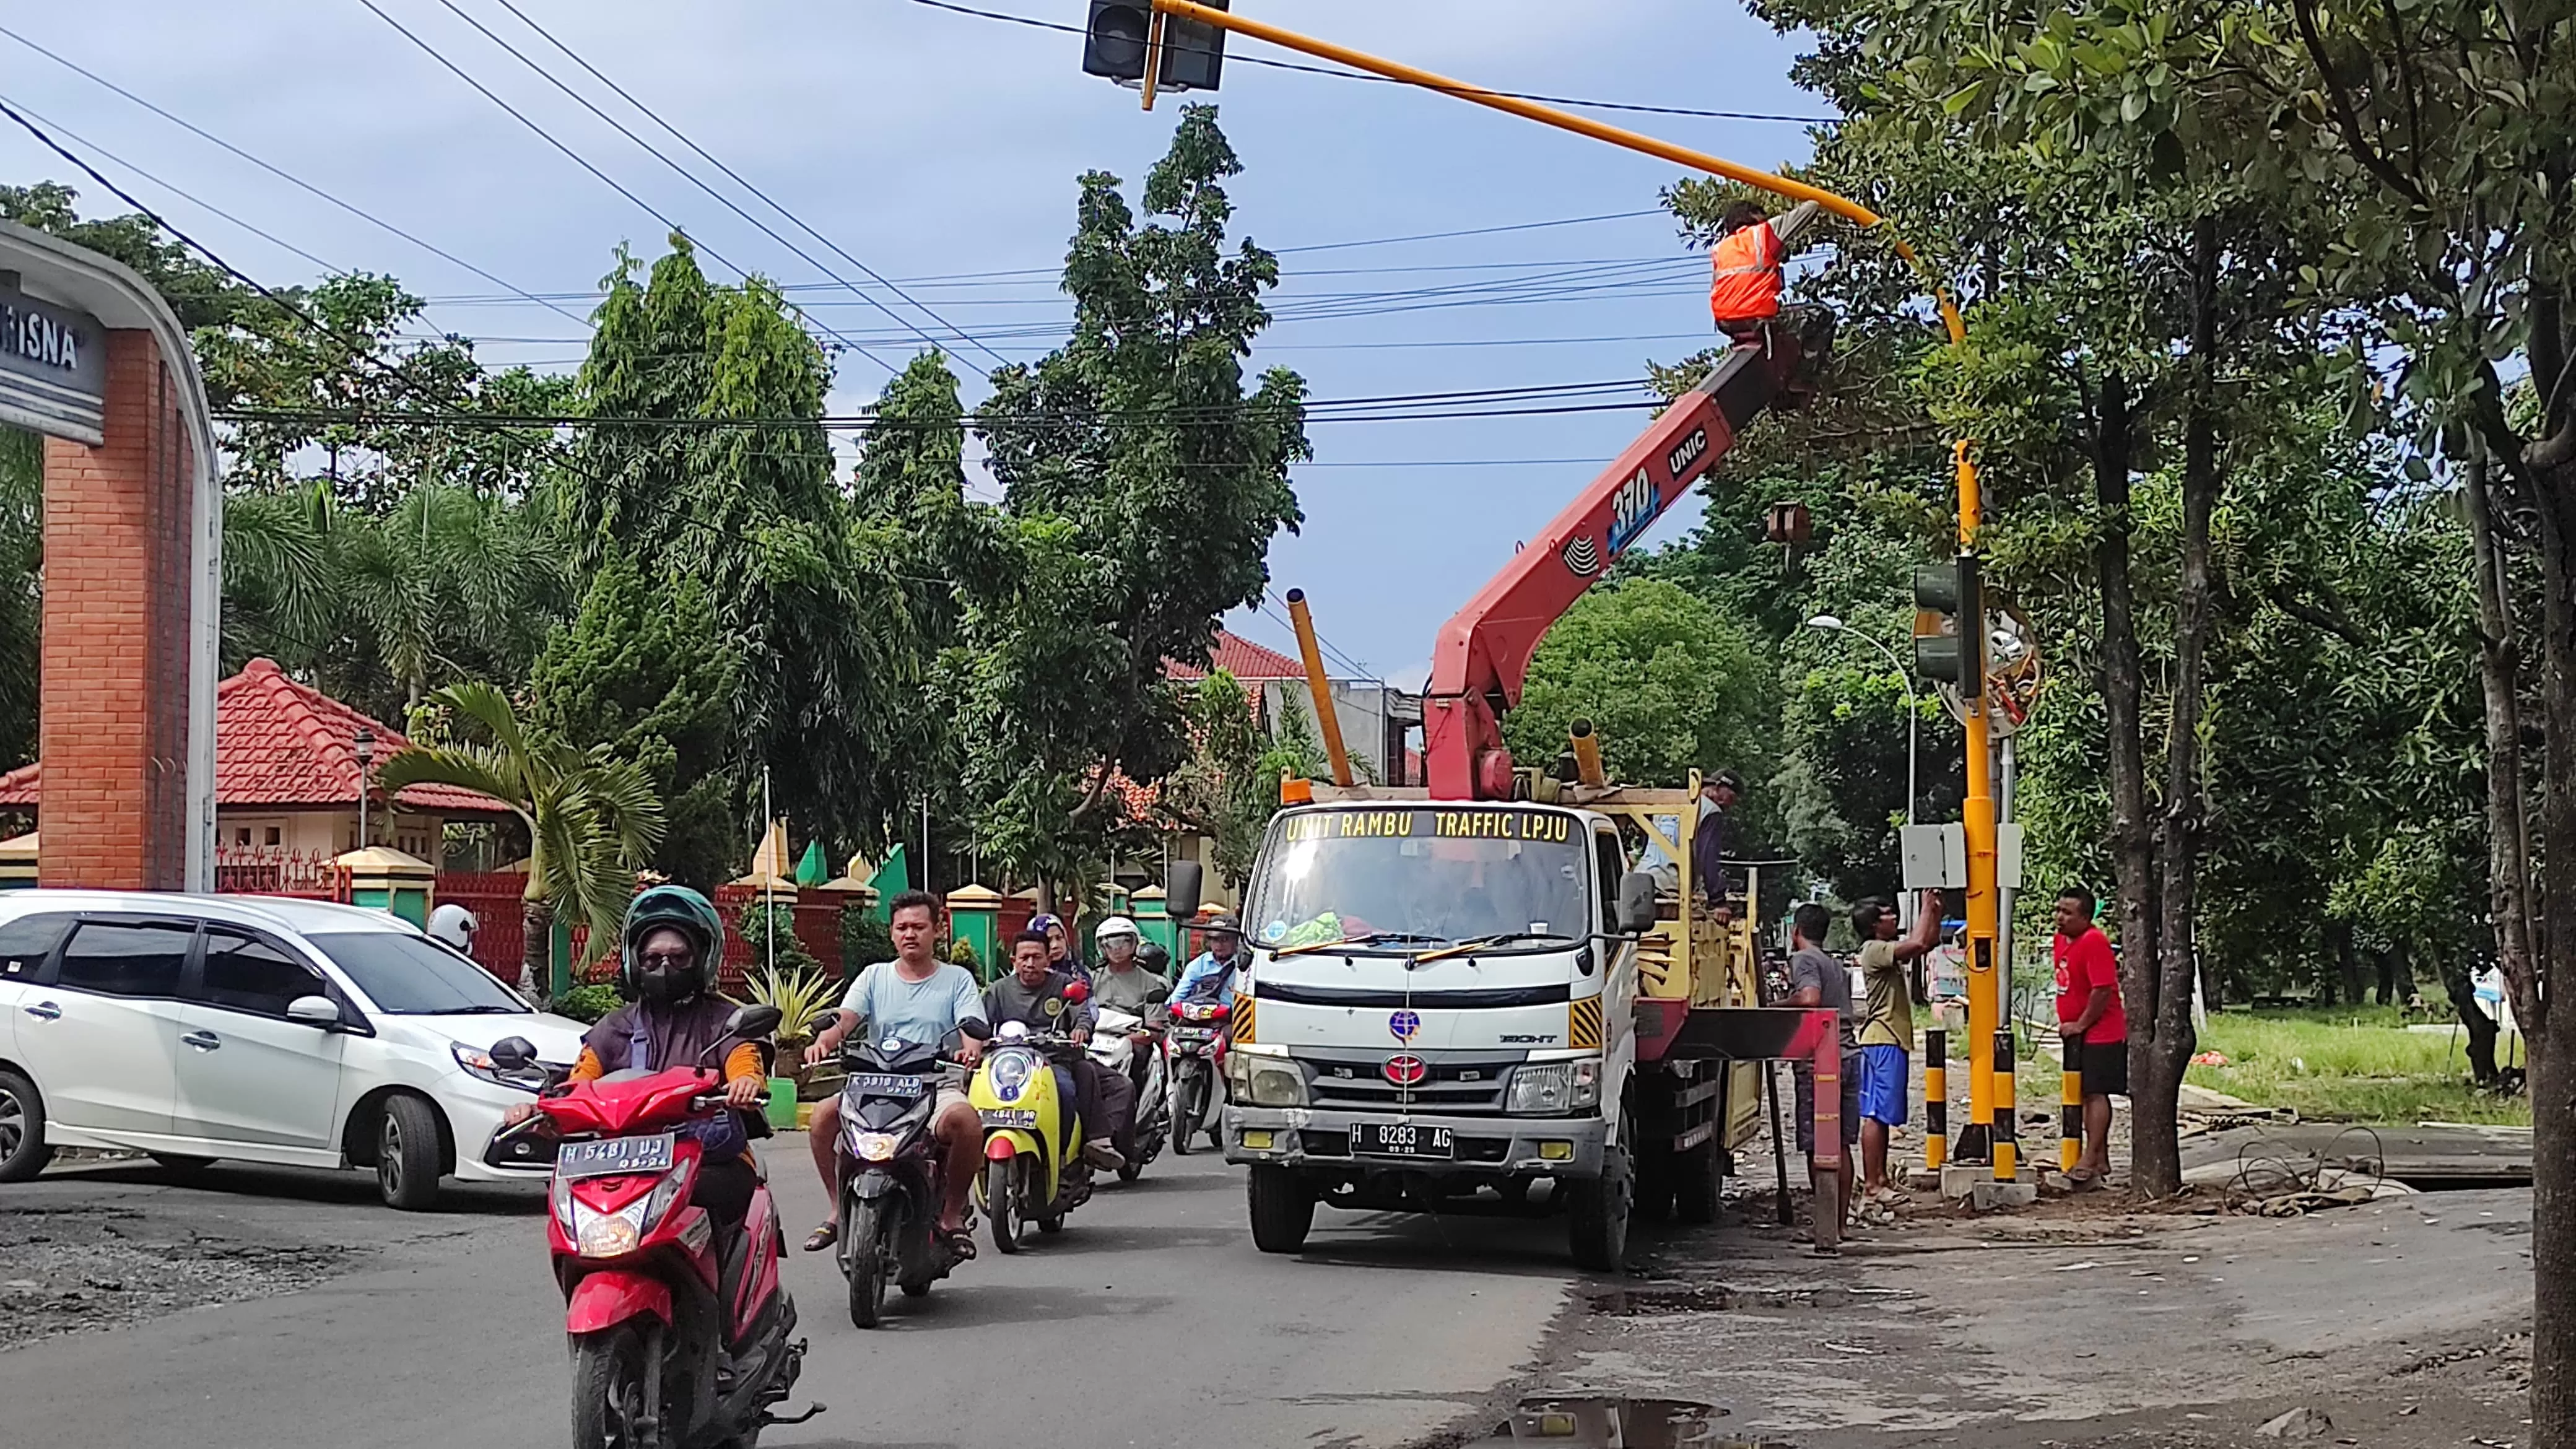
[[[1577,817],[1528,807],[1280,815],[1244,897],[1244,931],[1273,951],[1492,936],[1510,938],[1497,949],[1561,949],[1592,928],[1584,843]]]

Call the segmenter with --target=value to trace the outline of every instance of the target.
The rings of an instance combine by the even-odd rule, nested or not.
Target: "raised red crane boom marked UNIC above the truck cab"
[[[1728,351],[1700,387],[1628,443],[1440,629],[1422,694],[1432,799],[1512,797],[1502,717],[1520,704],[1530,655],[1548,627],[1788,389],[1801,361],[1798,343],[1785,327],[1770,333],[1767,343]]]

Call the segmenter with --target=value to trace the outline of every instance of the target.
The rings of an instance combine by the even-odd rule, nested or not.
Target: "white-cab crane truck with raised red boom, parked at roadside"
[[[1615,1271],[1631,1214],[1716,1217],[1770,1057],[1816,1062],[1819,1171],[1839,1168],[1834,1013],[1759,1006],[1757,892],[1726,920],[1703,900],[1721,866],[1690,851],[1700,781],[1613,784],[1589,730],[1571,768],[1502,740],[1548,627],[1803,392],[1803,364],[1788,330],[1731,345],[1443,627],[1427,786],[1283,781],[1244,890],[1224,1109],[1265,1253],[1301,1250],[1319,1204],[1453,1212],[1492,1189],[1561,1207],[1574,1261]],[[1167,895],[1188,918],[1198,866]],[[1819,1245],[1834,1230],[1819,1212]]]

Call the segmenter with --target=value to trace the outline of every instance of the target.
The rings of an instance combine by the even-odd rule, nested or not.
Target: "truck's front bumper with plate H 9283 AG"
[[[1450,1158],[1358,1158],[1352,1122],[1448,1127]],[[1600,1116],[1435,1116],[1329,1106],[1226,1106],[1226,1160],[1278,1168],[1455,1178],[1597,1178],[1610,1124]]]

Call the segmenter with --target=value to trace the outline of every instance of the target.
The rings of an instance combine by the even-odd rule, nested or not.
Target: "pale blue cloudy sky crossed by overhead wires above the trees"
[[[1082,0],[963,3],[1074,26],[1087,15]],[[510,5],[793,219],[659,131]],[[1731,0],[1236,0],[1236,10],[1497,90],[1821,113],[1788,80],[1798,41]],[[817,327],[891,366],[925,335],[945,340],[981,392],[974,374],[992,353],[1036,358],[1061,335],[1069,304],[1056,268],[1074,178],[1110,170],[1133,196],[1177,121],[1172,101],[1144,113],[1136,93],[1082,75],[1079,36],[920,0],[90,0],[0,8],[0,28],[10,31],[0,98],[224,260],[263,281],[312,281],[325,266],[392,273],[433,302],[433,330],[477,338],[492,366],[577,366],[585,294],[613,248],[659,255],[667,219],[714,276],[747,268],[786,284]],[[1236,235],[1280,250],[1280,320],[1252,366],[1298,369],[1316,400],[1412,397],[1636,384],[1649,358],[1703,345],[1705,260],[1656,211],[1656,191],[1680,175],[1672,165],[1448,95],[1244,57],[1298,57],[1234,39],[1213,98],[1244,160],[1229,183]],[[1595,116],[1747,165],[1808,152],[1801,124]],[[0,131],[0,180],[67,180],[85,214],[124,209],[15,126]],[[1481,235],[1401,240],[1432,232]],[[886,382],[855,348],[837,358],[835,413],[855,413]],[[1643,392],[1533,397],[1589,407]],[[1334,673],[1417,686],[1440,624],[1646,418],[1319,420],[1316,459],[1296,469],[1306,523],[1273,547],[1273,588],[1309,593]],[[1695,521],[1698,508],[1680,505],[1646,544]],[[1293,647],[1278,601],[1229,627]]]

